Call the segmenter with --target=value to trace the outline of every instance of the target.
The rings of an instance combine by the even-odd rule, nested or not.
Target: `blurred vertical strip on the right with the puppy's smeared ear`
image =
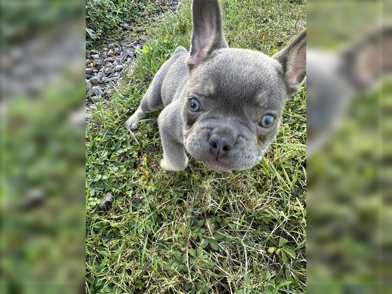
[[[392,293],[390,5],[307,2],[308,293]]]

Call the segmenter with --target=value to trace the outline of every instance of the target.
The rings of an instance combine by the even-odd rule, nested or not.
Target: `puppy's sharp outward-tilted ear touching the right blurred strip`
[[[283,66],[287,95],[291,96],[298,92],[306,76],[306,30],[272,58]]]

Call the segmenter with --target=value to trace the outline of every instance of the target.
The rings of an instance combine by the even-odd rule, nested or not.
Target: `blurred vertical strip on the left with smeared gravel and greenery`
[[[85,3],[0,5],[0,293],[80,293]]]

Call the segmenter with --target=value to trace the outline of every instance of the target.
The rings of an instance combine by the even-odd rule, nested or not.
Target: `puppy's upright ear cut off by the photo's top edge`
[[[187,61],[190,69],[206,59],[215,49],[228,47],[222,33],[218,0],[193,0],[192,20],[191,54]]]

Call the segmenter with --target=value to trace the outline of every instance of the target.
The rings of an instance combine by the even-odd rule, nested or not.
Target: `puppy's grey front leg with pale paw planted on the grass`
[[[176,132],[173,131],[173,121],[170,117],[170,111],[168,111],[170,108],[165,108],[158,118],[163,147],[161,168],[165,171],[179,172],[187,167],[188,157],[185,154],[184,145],[179,143],[179,138],[175,138],[177,137]]]

